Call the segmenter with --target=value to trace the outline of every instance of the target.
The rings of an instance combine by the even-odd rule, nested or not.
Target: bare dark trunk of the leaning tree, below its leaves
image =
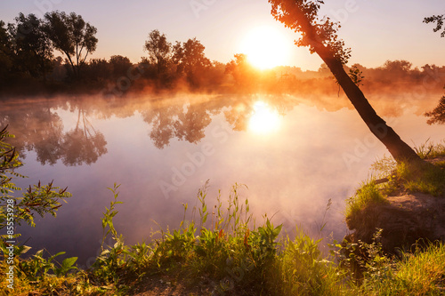
[[[420,157],[410,148],[401,137],[392,130],[384,119],[376,114],[376,111],[369,104],[358,85],[354,84],[352,78],[346,74],[340,60],[322,44],[314,46],[320,58],[328,65],[332,74],[336,77],[338,84],[342,87],[354,108],[359,112],[361,119],[368,125],[369,130],[380,140],[389,150],[392,157],[400,163],[401,161],[419,161]]]

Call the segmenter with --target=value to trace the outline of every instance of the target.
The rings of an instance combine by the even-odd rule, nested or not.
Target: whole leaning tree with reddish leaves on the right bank
[[[392,157],[397,162],[420,160],[416,152],[376,114],[358,85],[354,84],[352,78],[345,72],[344,64],[349,60],[351,51],[344,48],[344,41],[337,35],[339,24],[328,17],[320,19],[318,16],[323,1],[269,0],[269,3],[275,20],[301,34],[301,38],[295,44],[308,46],[311,53],[317,53],[328,65],[361,119],[389,150]]]

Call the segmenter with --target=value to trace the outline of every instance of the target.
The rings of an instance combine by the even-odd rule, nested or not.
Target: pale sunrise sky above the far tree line
[[[261,27],[282,36],[279,44],[268,42],[268,36],[262,42],[287,49],[279,52],[286,54],[280,61],[284,65],[317,70],[322,63],[293,44],[298,35],[273,19],[267,0],[2,0],[0,20],[13,22],[20,12],[42,17],[56,10],[76,12],[98,29],[92,58],[120,54],[138,62],[147,55],[143,44],[150,31],[158,29],[173,44],[196,37],[206,46],[207,58],[226,63],[245,50],[250,32]],[[368,68],[386,60],[409,60],[415,67],[445,65],[445,38],[433,33],[434,24],[422,22],[442,13],[443,0],[325,0],[320,11],[340,21],[339,36],[352,48],[349,65]]]

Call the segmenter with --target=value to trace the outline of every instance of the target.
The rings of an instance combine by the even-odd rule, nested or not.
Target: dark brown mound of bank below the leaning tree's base
[[[354,230],[348,240],[370,244],[376,228],[382,228],[380,243],[384,252],[392,253],[412,244],[445,241],[445,197],[412,193],[387,199],[388,204],[368,204],[346,220]]]

